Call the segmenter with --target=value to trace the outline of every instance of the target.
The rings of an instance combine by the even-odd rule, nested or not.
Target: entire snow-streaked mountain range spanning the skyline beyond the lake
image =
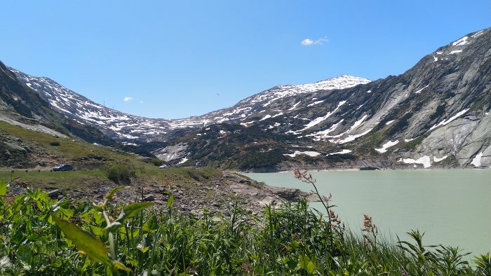
[[[240,170],[489,167],[491,29],[467,34],[399,76],[278,85],[203,116],[165,120],[108,109],[49,78],[11,69],[54,110],[174,163]]]

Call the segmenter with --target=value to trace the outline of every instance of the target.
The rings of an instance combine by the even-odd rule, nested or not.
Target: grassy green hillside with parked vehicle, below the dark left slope
[[[8,151],[8,154],[6,154]],[[0,121],[0,179],[20,177],[32,187],[90,189],[111,184],[105,167],[122,164],[133,181],[156,184],[191,184],[220,174],[211,168],[159,169],[159,160],[144,158],[107,146],[88,144],[72,138],[53,137]],[[51,172],[55,165],[69,163],[74,172]]]

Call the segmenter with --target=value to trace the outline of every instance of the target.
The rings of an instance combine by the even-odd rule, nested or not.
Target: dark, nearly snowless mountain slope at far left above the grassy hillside
[[[56,138],[71,137],[84,142],[140,153],[143,156],[152,156],[151,153],[139,147],[125,146],[114,141],[93,125],[78,123],[57,112],[50,102],[29,85],[20,82],[13,71],[2,62],[0,62],[0,121],[7,123],[9,127],[16,125],[34,132],[49,134],[53,137],[53,141]],[[36,146],[26,146],[28,142],[22,142],[22,139],[12,133],[6,132],[6,125],[2,123],[0,167],[33,167],[45,163],[33,161],[31,156],[35,154],[31,149]],[[41,159],[38,158],[38,160]]]

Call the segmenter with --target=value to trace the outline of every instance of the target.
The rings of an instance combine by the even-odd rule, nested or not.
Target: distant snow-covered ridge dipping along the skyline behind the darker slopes
[[[341,76],[318,83],[302,85],[278,85],[274,88],[248,97],[235,106],[220,109],[202,116],[166,120],[133,116],[90,101],[86,97],[65,88],[50,78],[29,76],[11,68],[19,81],[39,92],[39,95],[51,104],[53,109],[81,124],[96,125],[110,137],[126,143],[165,141],[173,137],[176,130],[193,127],[205,127],[214,123],[246,120],[261,107],[278,99],[323,89],[349,88],[359,83],[368,83],[365,78]],[[287,103],[288,104],[288,103]]]

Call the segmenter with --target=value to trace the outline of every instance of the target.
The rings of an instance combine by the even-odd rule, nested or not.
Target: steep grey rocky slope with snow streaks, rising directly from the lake
[[[490,57],[485,29],[438,48],[400,76],[267,102],[241,125],[175,139],[170,144],[180,151],[161,156],[242,170],[490,167]]]

